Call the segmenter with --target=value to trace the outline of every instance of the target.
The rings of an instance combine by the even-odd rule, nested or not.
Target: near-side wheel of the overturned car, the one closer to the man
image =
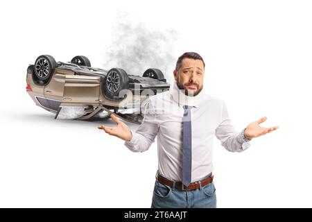
[[[128,74],[123,69],[113,68],[107,72],[102,82],[103,94],[107,99],[120,101],[124,96],[119,95],[122,89],[129,89]]]

